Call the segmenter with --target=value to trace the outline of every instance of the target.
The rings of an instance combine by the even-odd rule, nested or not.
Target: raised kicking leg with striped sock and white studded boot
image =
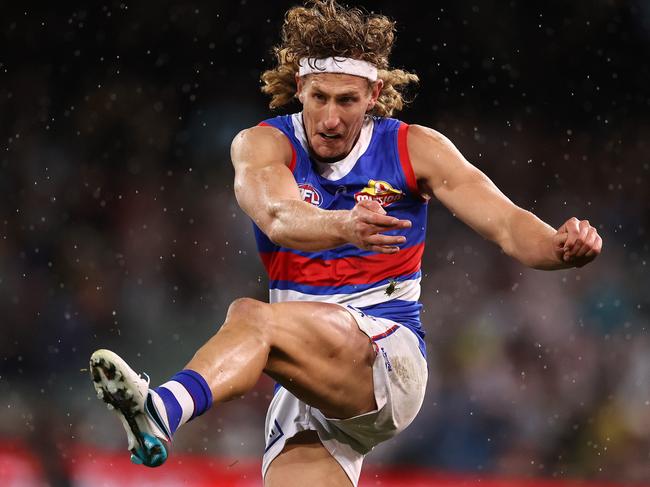
[[[376,407],[371,341],[350,312],[334,304],[239,299],[187,368],[151,390],[119,357],[109,354],[93,355],[95,388],[116,407],[132,459],[148,466],[161,463],[151,458],[158,449],[149,448],[149,437],[164,446],[181,424],[202,414],[213,400],[245,394],[262,372],[328,417],[348,418]],[[113,368],[118,379],[111,375]]]

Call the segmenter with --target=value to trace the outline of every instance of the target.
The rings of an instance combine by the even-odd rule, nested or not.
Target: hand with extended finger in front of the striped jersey
[[[382,232],[409,228],[409,220],[400,220],[386,214],[386,210],[376,201],[363,200],[357,203],[348,214],[346,224],[347,240],[364,250],[382,254],[399,252],[399,244],[406,241],[402,235],[383,235]]]

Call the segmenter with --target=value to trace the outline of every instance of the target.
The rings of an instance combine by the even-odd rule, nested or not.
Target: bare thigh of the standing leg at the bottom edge
[[[264,487],[350,487],[352,482],[321,444],[315,431],[303,431],[287,441],[269,465]]]

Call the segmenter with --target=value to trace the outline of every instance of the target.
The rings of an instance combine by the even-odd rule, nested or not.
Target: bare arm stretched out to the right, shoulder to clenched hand
[[[581,267],[600,254],[602,239],[587,220],[573,217],[554,229],[510,201],[435,130],[411,125],[408,149],[422,193],[435,196],[523,264],[536,269]]]

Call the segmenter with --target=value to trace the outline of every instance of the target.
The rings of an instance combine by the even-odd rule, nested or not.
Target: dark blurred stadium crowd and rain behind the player
[[[265,299],[229,144],[269,116],[259,74],[290,5],[0,4],[2,485],[226,485],[219,465],[259,485],[270,381],[180,431],[182,461],[143,477],[84,369],[107,347],[159,383],[230,301]],[[400,118],[604,240],[591,266],[529,270],[431,203],[427,398],[364,485],[647,485],[650,3],[358,5],[397,20],[392,63],[421,78]]]

